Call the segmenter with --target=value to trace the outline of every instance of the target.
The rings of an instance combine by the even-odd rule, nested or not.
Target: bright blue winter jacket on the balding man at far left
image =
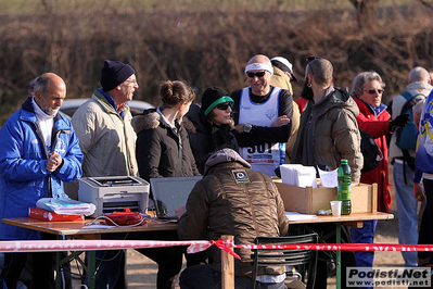
[[[51,151],[58,152],[62,165],[50,173],[46,164],[50,152],[44,144],[31,105],[27,98],[0,129],[0,218],[26,217],[28,208],[41,198],[66,198],[62,181],[81,176],[82,153],[71,121],[58,113],[54,117]],[[37,231],[0,225],[2,240],[37,240]]]

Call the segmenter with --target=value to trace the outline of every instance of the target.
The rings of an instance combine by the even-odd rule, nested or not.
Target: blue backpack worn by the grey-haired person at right
[[[425,96],[422,93],[417,93],[412,96],[409,91],[402,93],[402,96],[406,99],[406,103],[403,105],[400,114],[408,113],[410,115],[410,121],[405,127],[398,127],[395,130],[395,134],[397,135],[396,144],[405,155],[405,151],[415,151],[415,149],[417,148],[417,126],[413,122],[412,108],[415,104],[417,104],[418,101],[420,101],[421,99],[425,99]]]

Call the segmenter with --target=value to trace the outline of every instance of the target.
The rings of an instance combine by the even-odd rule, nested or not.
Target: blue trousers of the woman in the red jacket
[[[352,242],[354,243],[373,243],[374,231],[378,225],[377,219],[364,221],[362,228],[352,228]],[[355,251],[355,261],[358,267],[373,266],[374,252],[373,251]],[[372,287],[359,287],[359,289]]]

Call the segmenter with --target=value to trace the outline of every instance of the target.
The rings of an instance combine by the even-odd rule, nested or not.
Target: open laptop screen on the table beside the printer
[[[188,196],[202,176],[151,178],[151,191],[158,218],[177,219],[175,210],[186,205]]]

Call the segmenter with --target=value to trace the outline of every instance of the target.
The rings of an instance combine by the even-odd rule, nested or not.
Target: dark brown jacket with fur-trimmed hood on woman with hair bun
[[[156,109],[144,111],[132,118],[137,133],[136,154],[140,177],[199,176],[188,134],[176,122],[173,129]]]

